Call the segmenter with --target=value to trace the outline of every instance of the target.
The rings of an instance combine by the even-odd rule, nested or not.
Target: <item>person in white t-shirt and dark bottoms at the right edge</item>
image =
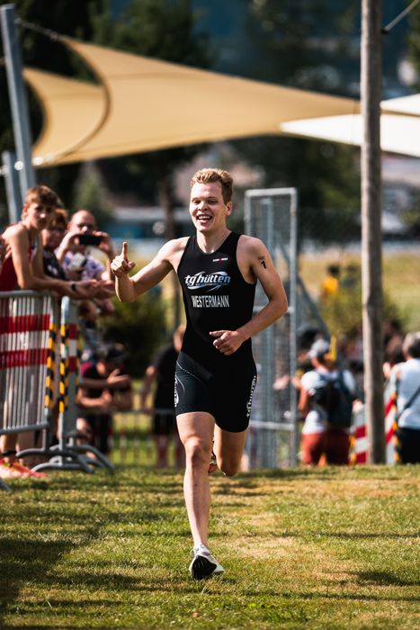
[[[404,338],[407,361],[391,370],[392,391],[397,396],[397,452],[401,464],[420,463],[420,332]]]

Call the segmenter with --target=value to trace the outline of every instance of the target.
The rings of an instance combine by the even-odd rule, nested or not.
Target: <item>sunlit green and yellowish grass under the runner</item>
[[[1,510],[0,626],[412,628],[420,466],[211,480],[211,549],[194,582],[182,475],[146,468],[15,480]]]

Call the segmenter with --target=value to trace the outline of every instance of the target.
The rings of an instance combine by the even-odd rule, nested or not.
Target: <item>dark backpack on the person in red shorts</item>
[[[310,400],[326,412],[326,419],[333,427],[350,428],[352,426],[353,394],[344,384],[343,372],[334,379],[321,377],[310,392]]]

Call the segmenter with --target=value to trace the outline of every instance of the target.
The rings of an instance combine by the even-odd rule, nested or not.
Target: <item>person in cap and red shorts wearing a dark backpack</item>
[[[300,383],[299,412],[305,418],[301,438],[303,464],[348,464],[356,383],[349,370],[337,369],[326,339],[309,350],[313,370]]]

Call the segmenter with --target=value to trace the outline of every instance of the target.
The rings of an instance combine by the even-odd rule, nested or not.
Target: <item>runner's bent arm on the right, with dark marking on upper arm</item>
[[[216,338],[213,342],[214,346],[227,356],[236,352],[246,339],[268,328],[275,320],[279,320],[288,309],[281,277],[273,265],[267,247],[259,238],[242,238],[244,238],[244,243],[238,251],[239,268],[247,282],[256,279],[261,283],[268,302],[264,309],[239,329],[210,332],[210,335]]]

